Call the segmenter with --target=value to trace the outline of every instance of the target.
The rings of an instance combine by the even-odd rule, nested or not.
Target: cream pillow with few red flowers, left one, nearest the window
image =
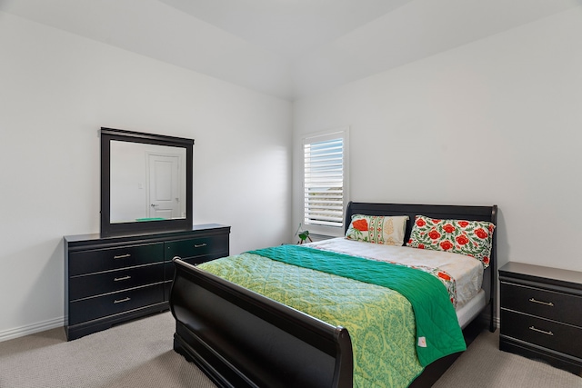
[[[354,214],[346,231],[346,239],[402,246],[407,220],[407,215]]]

